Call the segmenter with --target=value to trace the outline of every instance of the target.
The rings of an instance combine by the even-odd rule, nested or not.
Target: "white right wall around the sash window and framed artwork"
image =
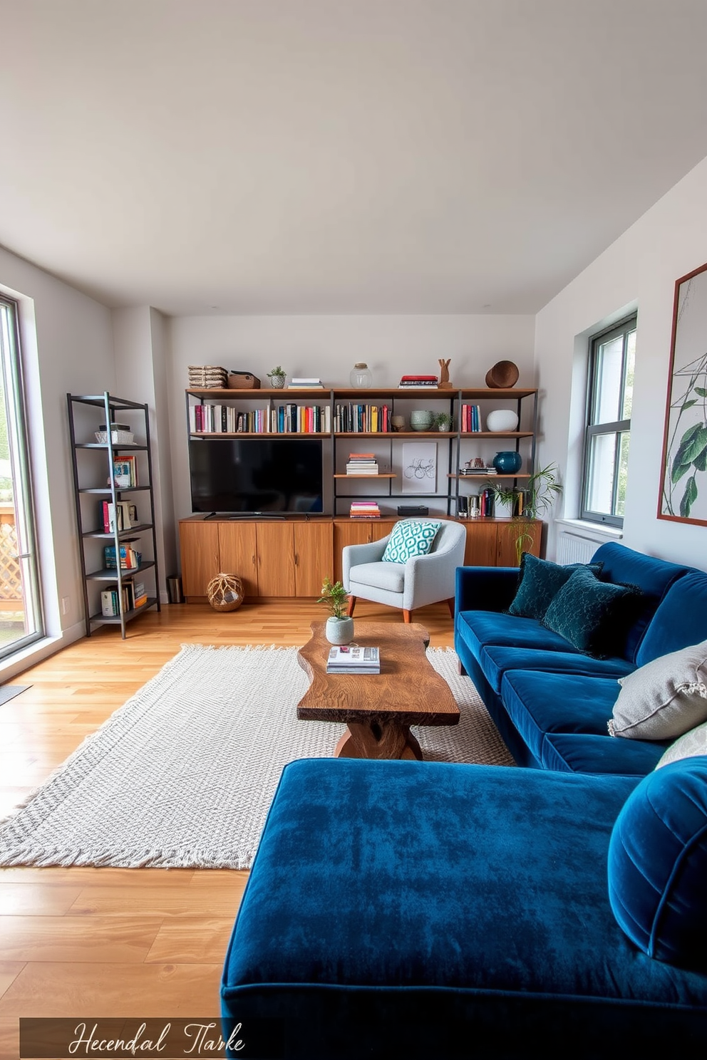
[[[593,262],[536,317],[540,459],[560,464],[565,512],[577,515],[578,444],[586,337],[638,310],[623,543],[707,568],[707,528],[657,518],[675,280],[707,260],[707,159]],[[707,336],[706,336],[707,343]],[[572,392],[572,368],[579,375]],[[572,404],[573,398],[573,404]],[[559,511],[555,514],[561,514]],[[553,533],[548,555],[553,554]]]

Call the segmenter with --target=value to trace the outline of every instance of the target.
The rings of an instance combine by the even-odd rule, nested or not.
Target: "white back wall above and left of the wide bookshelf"
[[[244,316],[170,321],[170,421],[176,518],[191,514],[184,389],[189,365],[250,371],[263,386],[282,365],[288,376],[349,386],[366,361],[374,386],[394,387],[404,372],[439,374],[450,357],[455,386],[482,387],[497,360],[515,361],[519,386],[534,386],[532,316]]]

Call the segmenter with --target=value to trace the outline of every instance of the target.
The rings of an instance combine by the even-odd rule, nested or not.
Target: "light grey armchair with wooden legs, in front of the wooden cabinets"
[[[420,522],[420,520],[418,520]],[[343,587],[350,595],[349,614],[356,598],[401,607],[406,622],[416,607],[446,600],[454,616],[455,571],[464,562],[466,529],[459,523],[442,522],[427,555],[407,563],[384,563],[388,538],[370,545],[347,545],[342,553]]]

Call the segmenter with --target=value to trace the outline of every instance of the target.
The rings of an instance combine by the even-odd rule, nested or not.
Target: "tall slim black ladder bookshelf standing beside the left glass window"
[[[149,447],[149,418],[146,405],[116,398],[106,391],[103,394],[67,394],[69,406],[69,430],[71,435],[71,457],[73,465],[74,497],[76,502],[76,526],[78,529],[79,559],[86,616],[86,636],[90,637],[95,625],[120,625],[125,638],[125,629],[149,607],[160,611],[159,570],[157,566],[157,533],[155,529],[155,498],[153,495],[153,462]],[[113,441],[110,424],[125,419],[137,442]],[[95,432],[106,425],[106,441],[94,441]],[[79,440],[77,440],[77,438]],[[117,485],[114,465],[127,454],[137,456],[138,481],[144,484]],[[118,518],[119,501],[136,495],[136,507],[143,508],[141,518],[126,529],[120,529]],[[102,501],[112,505],[113,529],[106,530],[101,514]],[[149,500],[149,518],[144,519],[144,502]],[[124,568],[120,562],[121,545],[130,538],[152,543],[152,558],[140,559],[136,567]],[[112,544],[116,567],[107,567],[104,548]],[[101,546],[100,551],[96,546]],[[124,588],[129,593],[132,583],[135,596],[136,578],[143,581],[143,573],[154,582],[147,590],[147,599],[137,607],[126,607]],[[117,586],[119,610],[116,615],[104,615],[101,606],[101,590],[107,585]],[[144,584],[144,582],[143,582]]]

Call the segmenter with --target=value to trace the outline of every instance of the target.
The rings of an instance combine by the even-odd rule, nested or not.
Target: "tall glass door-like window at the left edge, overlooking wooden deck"
[[[17,304],[0,294],[0,658],[42,636]]]

